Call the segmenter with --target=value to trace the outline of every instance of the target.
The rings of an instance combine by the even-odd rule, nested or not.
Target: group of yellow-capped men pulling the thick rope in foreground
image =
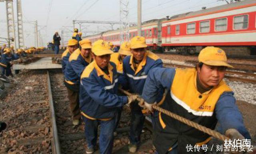
[[[202,146],[211,139],[153,110],[154,104],[211,129],[218,122],[218,130],[232,140],[251,139],[234,92],[223,81],[226,68],[232,66],[222,49],[206,47],[198,56],[196,68],[175,69],[164,68],[162,60],[146,50],[145,38],[140,36],[123,42],[116,52],[111,42],[100,39],[92,45],[90,40],[82,40],[75,29],[67,46],[62,54],[64,84],[73,124],[80,124],[81,119],[85,123],[87,154],[95,150],[98,126],[100,153],[111,154],[125,104],[131,108],[128,150],[132,153],[140,144],[145,114],[151,115],[156,154],[204,153],[187,152],[186,146]],[[132,95],[120,95],[118,87]]]

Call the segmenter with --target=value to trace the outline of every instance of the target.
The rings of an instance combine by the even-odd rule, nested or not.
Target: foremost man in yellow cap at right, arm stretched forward
[[[206,47],[198,56],[196,68],[158,68],[148,73],[143,89],[144,106],[152,111],[158,91],[164,90],[161,108],[214,129],[220,123],[222,133],[236,139],[251,139],[236,106],[234,92],[222,80],[227,67],[225,52]],[[153,144],[158,154],[187,154],[186,146],[207,144],[211,137],[178,120],[158,112],[154,120]],[[200,150],[198,153],[204,153]]]

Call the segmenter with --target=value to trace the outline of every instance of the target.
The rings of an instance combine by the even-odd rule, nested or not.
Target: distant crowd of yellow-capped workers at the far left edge
[[[43,50],[45,50],[44,47],[40,47],[40,48],[35,48],[35,47],[30,47],[30,48],[20,48],[17,49],[16,51],[14,51],[14,47],[10,46],[10,48],[7,48],[6,44],[4,44],[3,46],[0,46],[0,73],[1,76],[12,76],[12,61],[13,60],[17,60],[19,58],[25,58],[27,57],[29,54],[38,54],[40,52],[42,52]],[[19,70],[15,70],[14,72],[15,74],[19,73]]]

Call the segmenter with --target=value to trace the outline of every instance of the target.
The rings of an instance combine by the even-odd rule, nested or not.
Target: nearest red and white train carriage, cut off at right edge
[[[228,54],[251,54],[256,46],[256,1],[190,12],[163,22],[162,46],[190,53],[204,46],[221,46]]]

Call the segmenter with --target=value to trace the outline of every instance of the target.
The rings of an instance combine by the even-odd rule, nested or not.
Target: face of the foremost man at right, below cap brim
[[[220,81],[224,78],[226,67],[203,64],[202,68],[197,66],[197,70],[200,82],[203,86],[209,88],[212,86],[218,86]]]

